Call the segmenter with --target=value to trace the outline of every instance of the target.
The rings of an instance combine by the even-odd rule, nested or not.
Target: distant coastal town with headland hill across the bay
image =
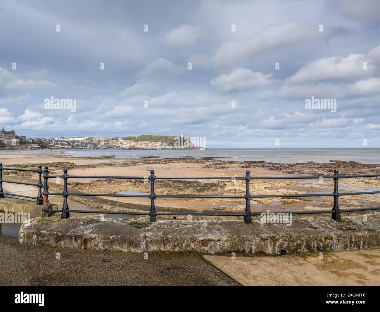
[[[139,138],[146,138],[141,139]],[[170,142],[161,142],[160,138],[169,138]],[[175,144],[174,136],[157,136],[155,134],[145,134],[139,137],[116,137],[107,139],[106,137],[26,137],[18,136],[12,129],[4,128],[0,131],[0,149],[3,150],[23,150],[23,149],[117,149],[117,150],[173,150],[197,148],[190,140],[178,140],[180,144]]]

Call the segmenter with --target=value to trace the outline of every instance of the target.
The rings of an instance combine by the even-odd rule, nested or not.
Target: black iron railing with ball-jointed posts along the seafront
[[[33,183],[22,183],[6,181],[2,178],[2,170],[19,170],[19,171],[29,171],[38,172],[38,184]],[[41,183],[41,173],[43,174],[44,184]],[[41,166],[38,166],[38,170],[29,169],[14,169],[14,168],[4,168],[0,164],[0,198],[5,196],[19,196],[27,197],[32,199],[37,199],[37,205],[42,205],[43,216],[48,216],[49,213],[61,213],[61,219],[68,219],[71,213],[101,213],[101,214],[130,214],[130,215],[146,215],[149,216],[150,222],[155,222],[157,216],[187,216],[189,214],[193,216],[244,216],[245,223],[252,222],[252,216],[260,216],[261,213],[252,213],[250,209],[250,200],[255,198],[286,198],[286,197],[334,197],[334,204],[332,210],[317,210],[317,211],[292,211],[292,214],[315,214],[315,213],[331,213],[331,217],[334,220],[340,220],[340,214],[344,212],[355,212],[355,211],[369,211],[369,210],[380,210],[380,207],[368,207],[368,208],[354,208],[354,209],[339,209],[339,197],[348,195],[364,195],[364,194],[380,194],[380,191],[372,192],[349,192],[349,193],[339,193],[338,181],[340,178],[366,178],[366,177],[380,177],[380,175],[339,175],[338,170],[334,170],[334,175],[328,176],[250,176],[249,170],[245,172],[245,176],[241,177],[221,177],[221,176],[155,176],[154,170],[150,170],[149,176],[90,176],[90,175],[68,175],[67,169],[63,169],[63,175],[49,175],[49,169],[45,166],[44,170]],[[48,191],[48,179],[49,178],[62,178],[63,179],[63,192],[62,193],[51,193]],[[67,181],[69,178],[80,178],[80,179],[140,179],[144,181],[149,181],[150,183],[150,194],[147,195],[133,195],[133,194],[94,194],[94,193],[71,193],[67,191]],[[298,179],[333,179],[334,180],[334,191],[332,193],[317,193],[317,194],[278,194],[278,195],[251,195],[250,194],[250,181],[252,180],[298,180]],[[245,180],[246,188],[244,195],[161,195],[155,194],[154,192],[154,181],[155,180]],[[7,183],[17,183],[33,185],[38,187],[38,196],[30,197],[23,196],[13,193],[4,193],[2,188],[2,182]],[[44,191],[41,194],[41,186],[43,186]],[[43,195],[43,198],[42,198]],[[62,210],[52,210],[48,206],[48,196],[59,195],[63,197]],[[92,211],[92,210],[70,210],[67,199],[68,196],[103,196],[103,197],[145,197],[150,199],[150,211],[148,212],[126,212],[126,211]],[[245,199],[245,211],[244,213],[176,213],[176,212],[157,212],[155,208],[156,198],[240,198]]]

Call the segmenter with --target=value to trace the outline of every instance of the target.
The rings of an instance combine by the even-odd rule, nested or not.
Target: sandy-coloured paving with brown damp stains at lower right
[[[275,257],[202,257],[242,285],[380,285],[380,249]]]

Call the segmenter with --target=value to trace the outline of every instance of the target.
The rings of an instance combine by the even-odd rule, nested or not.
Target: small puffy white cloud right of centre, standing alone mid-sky
[[[222,74],[210,80],[219,92],[247,91],[252,88],[265,87],[275,82],[272,74],[253,72],[248,68],[237,68],[228,74]]]

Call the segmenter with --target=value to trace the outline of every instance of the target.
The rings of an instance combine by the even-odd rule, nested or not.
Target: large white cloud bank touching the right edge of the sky
[[[282,87],[264,90],[263,100],[367,97],[380,93],[378,73],[380,45],[367,54],[349,54],[347,57],[326,57],[302,66],[293,76],[283,81]],[[367,69],[363,69],[367,63]]]

